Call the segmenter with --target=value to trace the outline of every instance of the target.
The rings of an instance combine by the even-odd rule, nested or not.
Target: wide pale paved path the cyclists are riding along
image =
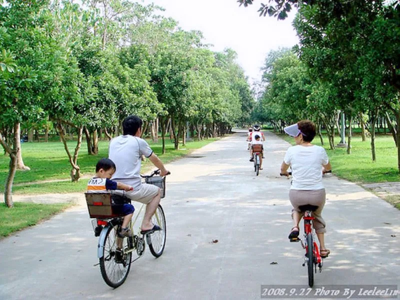
[[[122,286],[93,266],[97,239],[78,205],[0,241],[0,299],[259,299],[260,284],[305,287],[303,250],[287,241],[290,180],[277,176],[289,144],[266,138],[258,177],[244,132],[168,165],[165,251],[146,251]],[[331,255],[315,284],[400,285],[400,212],[354,183],[324,183]]]

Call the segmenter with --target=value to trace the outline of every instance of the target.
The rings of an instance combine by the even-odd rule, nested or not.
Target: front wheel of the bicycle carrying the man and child
[[[154,231],[154,233],[150,234],[151,243],[148,244],[148,248],[150,249],[151,254],[153,254],[155,257],[159,257],[164,251],[166,240],[165,214],[160,204],[158,204],[154,215],[151,217],[151,222],[160,226],[161,230]]]

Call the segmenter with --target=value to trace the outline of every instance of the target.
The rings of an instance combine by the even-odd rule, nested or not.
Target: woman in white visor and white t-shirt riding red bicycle
[[[325,188],[322,184],[322,173],[329,171],[331,165],[323,147],[311,144],[315,136],[315,124],[309,120],[301,120],[284,128],[284,131],[294,137],[295,146],[287,149],[280,173],[288,175],[287,169],[291,165],[292,184],[289,191],[289,199],[292,209],[293,228],[289,239],[295,239],[299,234],[298,223],[301,213],[298,206],[312,204],[318,208],[312,213],[315,217],[313,226],[320,244],[321,257],[330,253],[325,247],[324,233],[325,221],[321,217],[323,205],[325,205]]]

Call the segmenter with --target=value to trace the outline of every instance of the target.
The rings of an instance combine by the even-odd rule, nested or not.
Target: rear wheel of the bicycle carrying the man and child
[[[105,283],[111,287],[121,285],[130,269],[132,252],[123,253],[132,248],[132,238],[119,238],[116,235],[118,225],[109,226],[103,242],[103,256],[100,257],[100,271]],[[117,242],[120,243],[122,253],[116,252]]]

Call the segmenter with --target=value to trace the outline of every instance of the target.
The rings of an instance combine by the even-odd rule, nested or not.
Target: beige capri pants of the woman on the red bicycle
[[[325,189],[314,189],[314,190],[301,190],[301,189],[290,189],[289,199],[293,206],[292,211],[300,212],[298,206],[311,204],[318,206],[318,208],[312,212],[312,216],[315,219],[312,221],[312,225],[315,228],[316,233],[325,233],[326,223],[321,216],[323,205],[325,205]],[[293,213],[291,215],[293,217]]]

